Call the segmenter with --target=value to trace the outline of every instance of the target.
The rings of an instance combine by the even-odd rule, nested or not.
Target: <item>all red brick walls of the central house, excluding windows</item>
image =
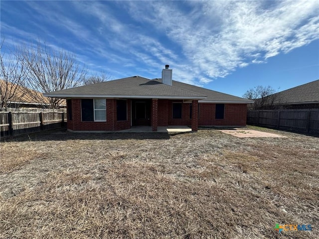
[[[182,119],[172,119],[172,103],[181,100],[154,100],[158,104],[157,126],[168,125],[191,125],[190,103],[182,104]],[[67,127],[72,130],[121,130],[131,127],[131,100],[127,101],[128,118],[117,121],[116,100],[107,99],[106,122],[84,121],[81,119],[81,100],[72,99],[72,120],[67,121]],[[246,104],[225,104],[224,119],[215,119],[215,104],[200,103],[198,125],[221,125],[221,126],[245,126],[247,116]],[[193,114],[196,114],[195,112]],[[155,117],[152,117],[152,125],[155,129]],[[153,122],[154,121],[154,122]],[[195,126],[194,126],[195,127]]]

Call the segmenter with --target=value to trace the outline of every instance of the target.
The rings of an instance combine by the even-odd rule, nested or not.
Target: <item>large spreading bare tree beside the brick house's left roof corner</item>
[[[60,91],[82,85],[86,76],[86,68],[81,67],[73,53],[63,50],[48,49],[40,42],[36,47],[21,48],[20,60],[28,71],[27,85],[30,89],[48,93]],[[42,101],[42,94],[30,94],[34,100]],[[44,102],[43,107],[59,109],[63,99],[48,98],[48,104]]]

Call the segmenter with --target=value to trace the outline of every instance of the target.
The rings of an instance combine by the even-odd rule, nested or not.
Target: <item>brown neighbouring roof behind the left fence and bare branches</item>
[[[44,97],[42,93],[38,91],[34,91],[23,86],[17,86],[16,84],[12,84],[4,80],[0,80],[0,86],[1,86],[0,87],[1,95],[2,93],[4,95],[4,91],[6,88],[8,91],[12,91],[12,93],[15,90],[12,98],[9,99],[8,103],[10,104],[34,105],[34,106],[50,104],[50,101],[48,100],[48,98]],[[63,102],[62,105],[65,106],[66,103]]]

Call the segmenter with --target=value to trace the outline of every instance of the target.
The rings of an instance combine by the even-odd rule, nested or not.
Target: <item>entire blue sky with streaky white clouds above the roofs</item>
[[[319,1],[0,1],[4,47],[45,41],[90,74],[160,78],[242,96],[319,79]]]

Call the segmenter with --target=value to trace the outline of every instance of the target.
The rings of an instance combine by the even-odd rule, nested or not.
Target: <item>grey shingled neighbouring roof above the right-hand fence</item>
[[[271,95],[275,105],[319,103],[319,80]]]

